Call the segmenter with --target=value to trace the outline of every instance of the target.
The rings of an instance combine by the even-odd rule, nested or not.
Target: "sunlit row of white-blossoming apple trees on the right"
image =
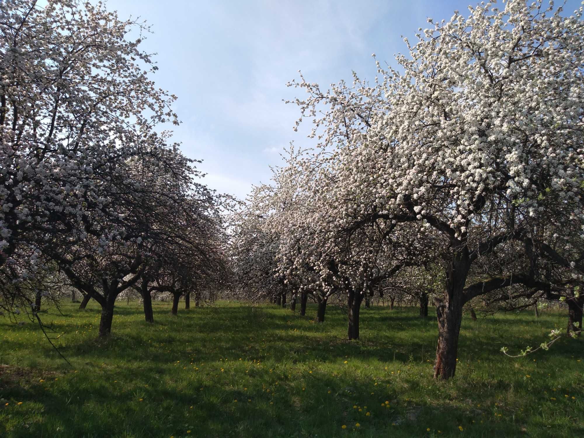
[[[562,300],[579,331],[584,296],[584,22],[510,0],[429,20],[398,68],[376,62],[327,90],[305,81],[311,150],[290,147],[272,185],[234,218],[239,296],[310,296],[324,320],[346,297],[400,282],[438,295],[434,377],[454,376],[473,300]],[[405,274],[407,272],[407,274]],[[434,294],[434,295],[436,295]],[[510,300],[509,297],[513,297]],[[303,298],[305,300],[305,298]],[[531,301],[530,301],[531,300]]]

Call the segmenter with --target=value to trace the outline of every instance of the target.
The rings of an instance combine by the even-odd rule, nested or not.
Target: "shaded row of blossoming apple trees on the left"
[[[40,297],[67,284],[101,305],[106,336],[130,288],[153,321],[152,291],[178,303],[223,286],[227,199],[157,130],[179,122],[176,97],[149,78],[146,32],[102,4],[0,3],[0,307],[10,314],[39,318]]]

